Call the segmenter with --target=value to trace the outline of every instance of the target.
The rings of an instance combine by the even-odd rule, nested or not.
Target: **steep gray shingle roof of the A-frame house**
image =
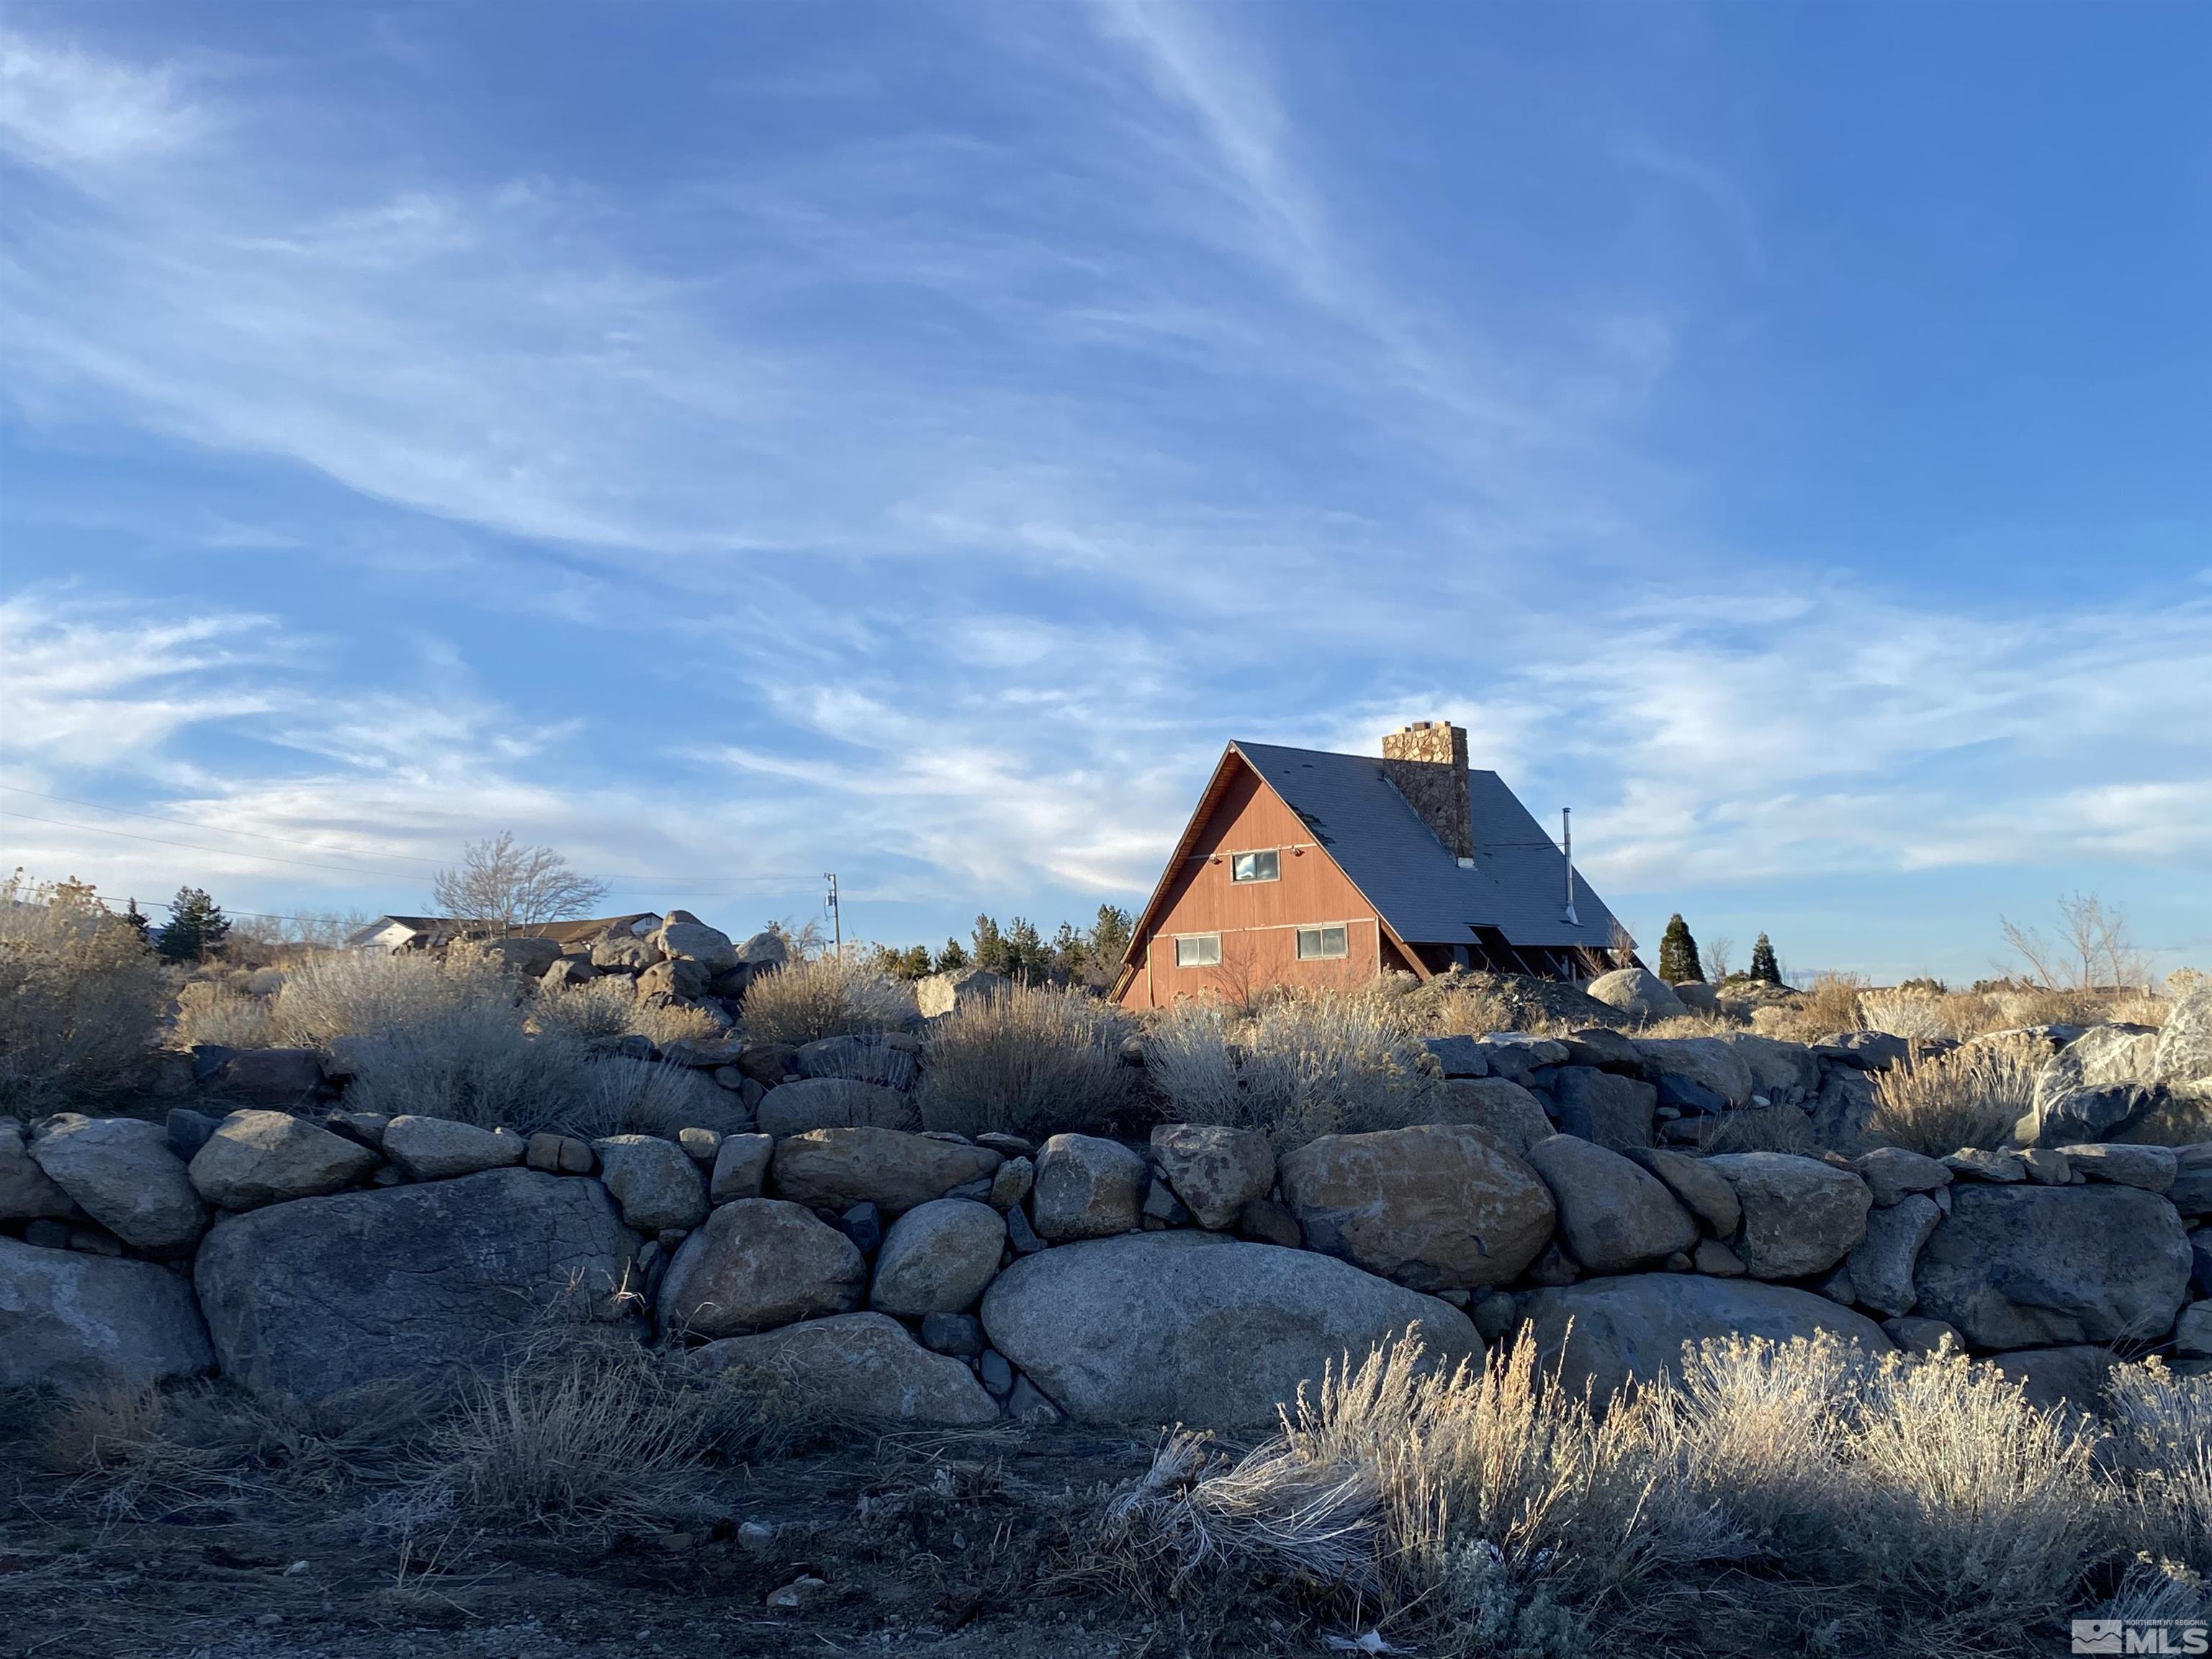
[[[1314,841],[1407,945],[1467,945],[1495,927],[1513,945],[1613,945],[1613,911],[1575,872],[1575,922],[1562,905],[1559,845],[1495,772],[1471,770],[1473,869],[1462,869],[1367,754],[1232,743],[1305,818]]]

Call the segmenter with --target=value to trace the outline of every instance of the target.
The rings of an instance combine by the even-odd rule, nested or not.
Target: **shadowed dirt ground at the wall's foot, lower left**
[[[1071,1522],[1150,1447],[1073,1429],[891,1436],[726,1471],[690,1531],[560,1537],[365,1524],[358,1491],[113,1498],[0,1425],[0,1659],[568,1659],[942,1655],[1241,1659],[1318,1628],[1203,1628],[1071,1566]],[[745,1524],[765,1524],[765,1542]],[[768,1597],[801,1577],[803,1608]]]

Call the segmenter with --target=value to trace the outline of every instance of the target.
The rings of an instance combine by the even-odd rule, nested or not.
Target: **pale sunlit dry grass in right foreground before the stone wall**
[[[2093,1429],[1955,1354],[1725,1340],[1681,1371],[1595,1413],[1526,1343],[1440,1374],[1400,1343],[1241,1460],[1164,1440],[1099,1551],[1141,1590],[1290,1593],[1467,1657],[2028,1652],[2139,1553],[2181,1566],[2135,1595],[2203,1597],[2174,1553],[2205,1546],[2201,1482],[2157,1460],[2194,1433],[2201,1462],[2212,1387],[2185,1411],[2143,1394],[2159,1427],[2099,1460]]]

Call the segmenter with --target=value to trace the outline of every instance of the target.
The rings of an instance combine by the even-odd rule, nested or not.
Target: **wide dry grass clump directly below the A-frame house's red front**
[[[1250,1013],[1179,1002],[1150,1024],[1144,1055],[1177,1117],[1256,1128],[1281,1152],[1402,1128],[1431,1088],[1394,1009],[1365,993],[1272,998]]]

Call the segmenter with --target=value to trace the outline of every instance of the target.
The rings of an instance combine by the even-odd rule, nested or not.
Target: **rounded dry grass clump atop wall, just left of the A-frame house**
[[[1018,984],[931,1024],[922,1040],[925,1128],[1042,1139],[1095,1135],[1128,1099],[1128,1020],[1082,991]]]

